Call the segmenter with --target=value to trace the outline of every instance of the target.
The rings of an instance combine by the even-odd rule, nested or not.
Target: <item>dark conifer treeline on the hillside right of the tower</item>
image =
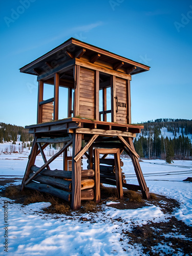
[[[172,159],[184,159],[192,156],[191,141],[186,136],[192,134],[192,120],[156,119],[143,125],[141,135],[134,140],[135,150],[140,157],[165,159],[169,154]],[[167,132],[173,132],[174,138],[164,138],[162,127],[166,127]]]

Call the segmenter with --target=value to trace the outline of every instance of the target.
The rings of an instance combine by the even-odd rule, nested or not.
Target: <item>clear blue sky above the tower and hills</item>
[[[151,67],[132,76],[133,123],[192,119],[192,1],[10,0],[0,5],[0,122],[36,123],[36,76],[19,68],[70,37]]]

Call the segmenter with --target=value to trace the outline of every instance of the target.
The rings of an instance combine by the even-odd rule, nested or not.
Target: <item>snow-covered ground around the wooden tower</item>
[[[0,154],[0,176],[23,176],[29,152],[22,155]],[[48,156],[47,159],[50,157]],[[130,159],[123,158],[127,183],[138,184]],[[44,162],[37,157],[36,165]],[[192,177],[192,161],[174,161],[165,164],[163,160],[144,160],[140,162],[143,175],[151,193],[176,199],[180,208],[172,213],[187,225],[192,225],[192,183],[182,180]],[[87,159],[83,159],[86,168]],[[52,163],[51,168],[62,168],[62,157]],[[15,184],[19,184],[17,181]],[[8,203],[8,252],[4,251],[5,227],[4,203]],[[140,245],[129,244],[122,238],[122,230],[130,231],[134,225],[142,226],[150,221],[167,221],[160,207],[148,205],[138,209],[119,210],[103,203],[102,211],[95,214],[81,214],[74,211],[73,216],[45,214],[42,208],[49,203],[35,203],[28,206],[14,204],[7,198],[1,198],[0,207],[0,255],[145,255]],[[162,202],[163,204],[163,202]],[[88,221],[82,221],[87,218]],[[122,221],[119,222],[118,219]],[[159,245],[163,249],[162,245]],[[126,250],[126,251],[125,251]],[[164,253],[170,253],[170,247],[164,247]],[[157,250],[158,251],[158,250]],[[163,254],[163,255],[165,255]],[[170,255],[170,254],[169,254]],[[172,255],[184,255],[173,254]]]

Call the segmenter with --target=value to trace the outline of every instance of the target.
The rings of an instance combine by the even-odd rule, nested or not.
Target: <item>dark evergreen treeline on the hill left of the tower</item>
[[[18,140],[27,142],[32,141],[33,137],[28,133],[28,129],[23,126],[17,126],[12,124],[0,123],[0,143]]]

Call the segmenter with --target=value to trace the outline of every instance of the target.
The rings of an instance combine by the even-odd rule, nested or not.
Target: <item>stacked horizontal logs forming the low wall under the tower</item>
[[[29,177],[34,175],[38,169],[39,167],[33,165]],[[95,171],[93,169],[81,171],[81,200],[94,199],[94,176]],[[72,172],[44,169],[25,187],[49,193],[69,202],[72,194]]]

